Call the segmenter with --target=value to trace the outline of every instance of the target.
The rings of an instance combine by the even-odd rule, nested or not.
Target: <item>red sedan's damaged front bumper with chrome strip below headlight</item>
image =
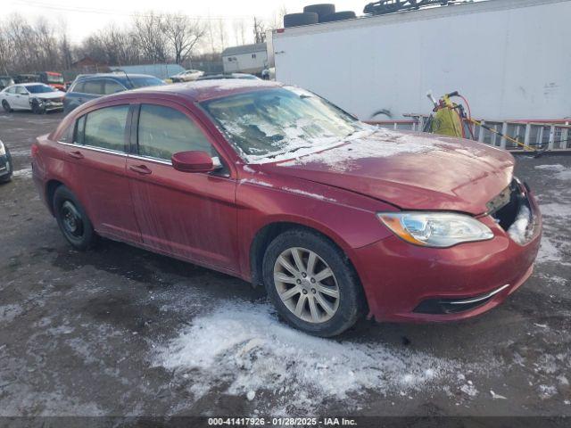
[[[542,235],[541,213],[525,185],[516,181],[504,202],[479,218],[492,230],[489,241],[438,249],[390,236],[356,250],[352,261],[370,314],[378,321],[453,321],[501,304],[532,274]],[[530,215],[516,242],[509,227],[522,208]]]

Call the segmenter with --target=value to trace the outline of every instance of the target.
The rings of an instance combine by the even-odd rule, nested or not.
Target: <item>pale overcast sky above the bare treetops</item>
[[[60,21],[68,29],[73,42],[79,42],[83,37],[97,29],[103,29],[110,22],[125,24],[131,15],[137,12],[184,12],[203,19],[222,18],[227,23],[229,43],[232,45],[233,23],[236,20],[252,21],[259,16],[272,20],[275,13],[285,6],[287,12],[302,12],[306,4],[316,4],[319,1],[308,0],[2,0],[3,15],[19,12],[23,16],[34,19],[44,16],[49,21]],[[7,3],[7,4],[6,4]],[[351,10],[362,14],[367,0],[336,0],[337,11]],[[137,5],[134,8],[134,5]],[[63,24],[64,23],[64,24]],[[249,36],[249,35],[248,35]]]

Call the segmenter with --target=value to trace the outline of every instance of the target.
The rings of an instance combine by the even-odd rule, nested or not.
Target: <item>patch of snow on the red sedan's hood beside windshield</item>
[[[329,168],[344,171],[352,168],[353,161],[366,158],[381,158],[401,153],[421,153],[434,150],[437,140],[401,134],[387,129],[377,130],[368,136],[353,139],[348,144],[325,152],[294,153],[296,159],[281,165],[294,166],[308,163],[326,164]],[[307,154],[307,155],[306,155]],[[292,155],[290,154],[290,157]]]

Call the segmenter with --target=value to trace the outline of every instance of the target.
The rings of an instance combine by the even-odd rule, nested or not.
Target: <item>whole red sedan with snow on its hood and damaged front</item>
[[[32,147],[63,235],[99,235],[264,284],[333,336],[361,315],[449,321],[530,276],[541,214],[508,153],[372,127],[256,80],[105,96]]]

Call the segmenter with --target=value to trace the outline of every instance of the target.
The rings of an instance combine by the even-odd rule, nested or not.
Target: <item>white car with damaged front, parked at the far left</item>
[[[0,103],[4,111],[31,110],[41,114],[51,110],[63,110],[62,91],[43,83],[22,83],[4,88]]]

